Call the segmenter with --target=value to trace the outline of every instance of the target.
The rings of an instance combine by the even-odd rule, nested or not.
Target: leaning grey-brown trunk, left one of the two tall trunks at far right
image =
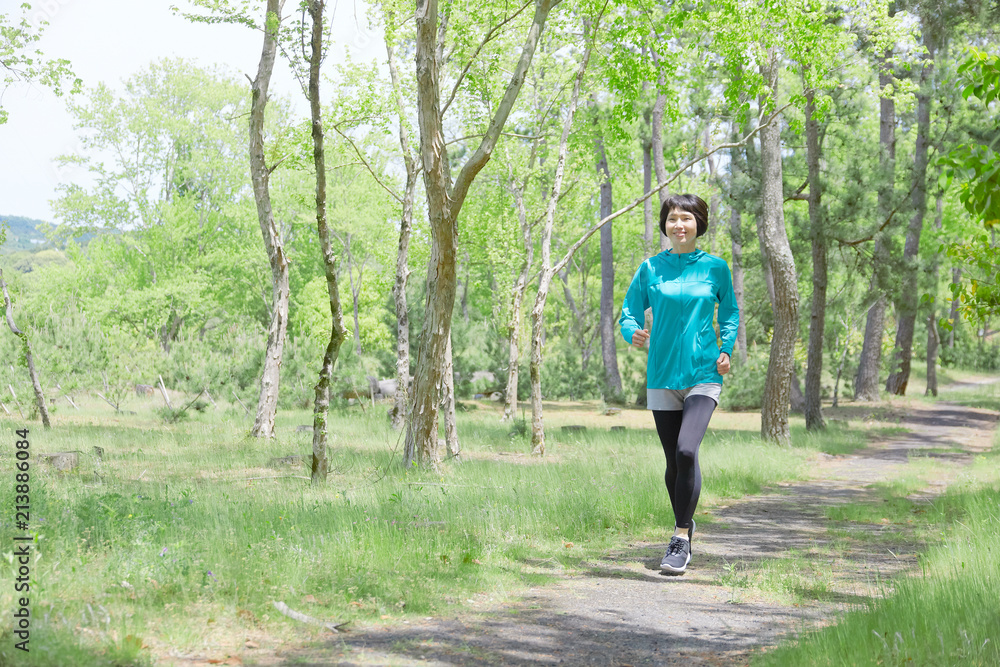
[[[892,16],[894,10],[889,10]],[[879,88],[885,89],[892,83],[889,71],[889,59],[892,48],[888,48],[879,59]],[[896,168],[896,103],[892,97],[883,97],[879,101],[879,164],[882,171],[881,184],[878,188],[879,217],[885,220],[893,207],[893,189]],[[888,263],[885,257],[885,244],[881,238],[875,239],[875,250],[872,262],[871,291],[877,295],[875,303],[868,309],[868,319],[865,323],[865,339],[861,346],[861,359],[858,362],[858,374],[854,381],[854,398],[858,401],[877,401],[879,399],[879,372],[882,368],[882,334],[885,330],[886,297],[883,288],[884,280],[880,272]]]

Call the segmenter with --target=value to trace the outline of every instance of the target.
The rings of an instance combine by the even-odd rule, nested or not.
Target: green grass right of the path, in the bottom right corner
[[[951,402],[1000,409],[1000,386],[949,392]],[[837,624],[765,653],[756,667],[799,665],[1000,665],[1000,433],[929,505],[912,499],[929,462],[883,485],[876,505],[838,508],[839,520],[917,523],[934,545],[919,576]],[[921,473],[924,473],[921,475]]]

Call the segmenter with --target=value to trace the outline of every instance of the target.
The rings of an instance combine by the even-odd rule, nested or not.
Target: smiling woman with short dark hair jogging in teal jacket
[[[695,247],[707,229],[708,205],[700,197],[673,195],[663,203],[660,231],[671,249],[639,266],[618,320],[626,342],[636,348],[649,342],[646,407],[667,458],[664,481],[674,510],[674,535],[660,569],[674,574],[691,561],[701,493],[698,447],[719,403],[740,321],[729,266]],[[721,347],[712,322],[716,304]],[[647,308],[653,309],[652,331],[640,324]]]

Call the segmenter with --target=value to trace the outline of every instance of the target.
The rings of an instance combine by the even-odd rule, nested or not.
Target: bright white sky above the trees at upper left
[[[22,1],[0,0],[0,11],[19,16]],[[329,2],[334,44],[325,69],[342,62],[345,52],[356,62],[384,60],[382,36],[368,27],[363,0]],[[177,5],[182,11],[191,10],[186,0],[31,0],[31,4],[31,21],[48,21],[37,47],[49,58],[68,59],[87,87],[104,82],[120,88],[123,79],[166,57],[183,57],[202,66],[225,65],[251,77],[257,71],[260,34],[243,26],[191,23],[170,9]],[[262,0],[258,4],[263,8]],[[295,4],[287,2],[288,7]],[[56,186],[74,180],[86,184],[79,167],[60,168],[54,161],[78,146],[65,99],[42,86],[22,83],[11,85],[2,95],[10,118],[0,125],[0,214],[55,222],[49,200],[56,196]],[[308,114],[300,88],[280,58],[271,95],[289,97],[299,113]]]

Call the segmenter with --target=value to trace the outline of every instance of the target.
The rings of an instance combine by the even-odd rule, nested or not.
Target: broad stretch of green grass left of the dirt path
[[[435,475],[402,469],[400,435],[381,411],[334,412],[333,473],[313,488],[302,468],[266,467],[309,453],[311,435],[294,432],[310,421],[304,411],[283,413],[272,442],[246,438],[234,413],[172,425],[148,410],[115,423],[98,414],[32,428],[33,454],[76,450],[81,465],[57,473],[33,461],[32,646],[48,654],[13,655],[5,634],[0,665],[143,665],[151,653],[205,647],[219,657],[238,653],[248,634],[312,632],[273,601],[336,622],[456,613],[549,581],[537,563],[582,567],[625,540],[664,539],[672,525],[651,423],[623,434],[550,426],[539,460],[492,410],[476,410],[459,415],[465,461]],[[594,414],[554,411],[552,420],[612,423]],[[21,426],[0,422],[5,470]],[[796,429],[793,441],[781,449],[750,430],[710,429],[701,509],[794,479],[816,451],[854,448],[864,434]],[[14,504],[13,485],[0,485],[0,522],[11,529]],[[0,560],[5,581],[13,571]],[[0,608],[13,606],[5,587]]]

